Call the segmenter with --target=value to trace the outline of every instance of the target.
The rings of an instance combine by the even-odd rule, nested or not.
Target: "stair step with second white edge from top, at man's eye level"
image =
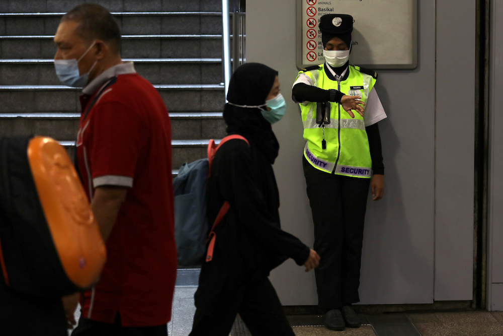
[[[56,47],[52,35],[0,36],[0,58],[53,58]],[[124,35],[123,58],[221,58],[219,34]]]

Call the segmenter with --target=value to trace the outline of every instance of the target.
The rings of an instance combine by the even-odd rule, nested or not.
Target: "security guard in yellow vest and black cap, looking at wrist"
[[[314,222],[318,305],[325,326],[359,327],[363,227],[369,184],[384,193],[377,122],[386,113],[375,91],[377,74],[349,65],[353,17],[329,14],[319,22],[325,63],[299,72],[292,89],[304,123],[303,166]],[[356,111],[356,112],[354,112]]]

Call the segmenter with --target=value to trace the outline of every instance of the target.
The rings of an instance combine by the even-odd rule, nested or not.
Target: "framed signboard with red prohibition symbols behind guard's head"
[[[369,69],[417,66],[417,0],[297,0],[297,68],[324,62],[319,19],[353,16],[350,63]]]

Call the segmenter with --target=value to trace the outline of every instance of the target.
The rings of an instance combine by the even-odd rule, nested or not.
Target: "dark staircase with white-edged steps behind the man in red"
[[[79,89],[63,86],[52,42],[61,16],[83,0],[0,0],[0,135],[49,136],[71,153]],[[108,0],[121,55],[160,93],[172,123],[173,172],[225,136],[219,0]]]

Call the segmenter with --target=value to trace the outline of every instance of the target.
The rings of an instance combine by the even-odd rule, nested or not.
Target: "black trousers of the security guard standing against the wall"
[[[303,157],[307,196],[314,222],[314,269],[318,305],[334,309],[360,301],[360,266],[369,178],[314,168]]]

